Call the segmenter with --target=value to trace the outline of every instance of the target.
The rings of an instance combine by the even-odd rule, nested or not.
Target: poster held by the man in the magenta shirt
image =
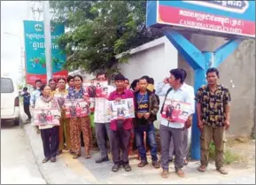
[[[133,98],[122,99],[120,101],[110,101],[108,113],[110,119],[119,119],[125,117],[126,119],[135,118],[135,107]]]

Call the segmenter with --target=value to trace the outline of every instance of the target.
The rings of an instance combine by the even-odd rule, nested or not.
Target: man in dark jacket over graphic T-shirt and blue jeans
[[[141,162],[139,167],[144,167],[148,164],[146,157],[146,149],[144,147],[144,132],[146,133],[146,141],[151,148],[152,166],[159,168],[158,150],[155,136],[155,127],[153,122],[156,120],[156,115],[159,112],[159,103],[156,95],[147,89],[148,81],[142,77],[139,79],[139,91],[135,92],[135,134],[136,146],[139,150]]]

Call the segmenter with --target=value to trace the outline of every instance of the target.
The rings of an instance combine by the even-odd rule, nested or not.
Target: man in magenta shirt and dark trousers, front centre
[[[116,85],[116,90],[110,94],[110,101],[120,102],[122,99],[134,97],[133,92],[125,88],[124,81],[125,77],[122,74],[115,75],[114,83]],[[132,121],[133,119],[126,119],[124,116],[111,121],[111,149],[112,161],[114,163],[114,166],[112,166],[112,172],[117,172],[121,165],[123,165],[126,172],[131,171],[131,166],[129,166],[128,161],[128,148],[131,138]]]

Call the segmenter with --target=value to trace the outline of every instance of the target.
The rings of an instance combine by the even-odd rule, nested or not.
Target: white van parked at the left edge
[[[14,121],[19,125],[19,92],[12,78],[1,76],[1,122]]]

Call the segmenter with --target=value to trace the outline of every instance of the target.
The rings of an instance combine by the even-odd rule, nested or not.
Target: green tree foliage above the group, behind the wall
[[[146,1],[50,1],[50,7],[68,29],[58,43],[69,69],[118,72],[116,64],[128,61],[125,51],[162,36],[145,25]]]

